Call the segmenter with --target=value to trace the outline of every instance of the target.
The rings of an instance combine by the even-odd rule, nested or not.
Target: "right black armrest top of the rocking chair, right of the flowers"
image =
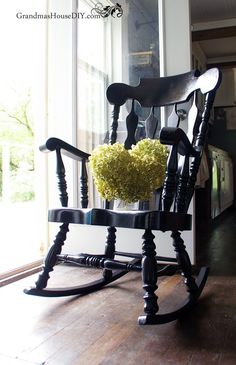
[[[177,145],[179,154],[183,156],[196,157],[199,154],[181,128],[163,127],[160,132],[160,142],[171,146]]]

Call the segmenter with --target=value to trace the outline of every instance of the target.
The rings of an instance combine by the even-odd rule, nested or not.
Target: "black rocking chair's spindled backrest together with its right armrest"
[[[166,178],[162,190],[161,209],[186,213],[196,183],[203,148],[206,142],[210,111],[215,92],[220,85],[221,75],[217,68],[200,75],[198,70],[181,75],[157,79],[141,79],[138,86],[114,83],[107,89],[107,99],[114,106],[110,132],[110,143],[117,140],[120,107],[132,100],[131,111],[126,118],[127,138],[125,148],[136,144],[135,133],[138,115],[135,102],[149,107],[150,114],[145,121],[146,136],[154,138],[158,120],[155,107],[172,106],[168,127],[162,128],[160,141],[170,145]],[[191,100],[188,112],[181,104]],[[180,128],[185,123],[186,133]]]

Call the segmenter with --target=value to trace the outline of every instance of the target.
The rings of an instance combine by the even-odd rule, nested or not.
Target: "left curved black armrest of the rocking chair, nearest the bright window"
[[[87,160],[90,156],[88,153],[83,152],[69,143],[55,137],[49,138],[44,145],[39,147],[39,149],[42,152],[61,150],[64,155],[79,161]]]

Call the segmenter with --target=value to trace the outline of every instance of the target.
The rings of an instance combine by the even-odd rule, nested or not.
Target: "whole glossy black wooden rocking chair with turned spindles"
[[[129,149],[136,143],[135,132],[138,117],[134,108],[135,103],[150,108],[150,115],[146,120],[146,136],[159,138],[162,144],[170,146],[170,153],[166,167],[166,177],[161,189],[158,208],[148,209],[147,205],[139,204],[136,211],[120,211],[112,209],[111,202],[106,201],[103,209],[87,208],[87,162],[89,154],[67,144],[66,142],[50,138],[41,147],[42,151],[55,151],[57,157],[57,176],[62,207],[49,210],[49,222],[62,223],[44,262],[34,287],[25,289],[25,293],[39,296],[67,296],[87,294],[101,289],[105,285],[117,280],[129,271],[141,271],[144,295],[144,314],[139,317],[139,324],[159,324],[173,321],[182,316],[197,301],[205,286],[208,268],[202,267],[195,278],[192,264],[181,231],[191,230],[192,216],[188,214],[197,173],[206,143],[208,121],[214,102],[216,89],[220,85],[220,72],[216,68],[209,69],[202,75],[198,71],[161,77],[156,79],[141,79],[137,87],[122,83],[115,83],[107,89],[107,99],[114,106],[113,120],[110,131],[110,144],[117,139],[117,128],[120,107],[127,100],[132,101],[131,112],[126,119],[127,138],[125,148]],[[185,112],[181,103],[191,105]],[[200,104],[200,108],[198,107]],[[171,106],[167,127],[163,127],[156,137],[157,118],[154,107]],[[170,111],[170,109],[168,109]],[[184,132],[180,125],[185,125]],[[81,164],[81,208],[68,207],[67,184],[62,154],[78,160]],[[78,254],[62,255],[61,250],[66,240],[69,224],[99,225],[107,227],[105,251],[101,255]],[[143,245],[142,252],[131,254],[117,252],[116,227],[126,229],[140,229]],[[152,230],[169,231],[172,244],[176,252],[176,259],[159,257],[156,255],[154,235]],[[115,256],[129,257],[130,261],[115,260]],[[161,265],[160,265],[161,261]],[[174,261],[174,262],[173,262]],[[67,288],[49,288],[47,282],[49,273],[60,262],[74,263],[78,266],[94,267],[101,270],[101,279],[87,285]],[[163,262],[166,265],[163,268]],[[170,264],[172,262],[172,264]],[[168,263],[168,264],[167,264]],[[171,268],[174,267],[174,270]],[[180,308],[166,314],[158,314],[157,278],[174,273],[178,267],[186,284],[186,299]]]

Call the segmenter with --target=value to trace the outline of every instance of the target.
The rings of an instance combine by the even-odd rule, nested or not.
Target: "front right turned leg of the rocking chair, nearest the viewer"
[[[144,313],[139,317],[139,324],[152,323],[152,319],[156,317],[159,310],[157,304],[157,262],[156,262],[156,245],[154,243],[155,236],[150,229],[146,229],[142,237],[143,242],[143,259],[142,259],[142,279],[144,294]]]

